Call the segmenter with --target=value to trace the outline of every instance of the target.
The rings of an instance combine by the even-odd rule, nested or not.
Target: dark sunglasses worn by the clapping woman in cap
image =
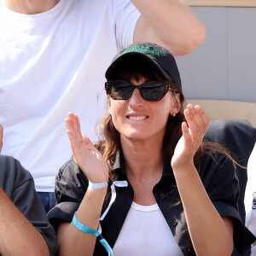
[[[168,90],[173,90],[170,84],[159,81],[148,81],[141,85],[134,85],[124,80],[105,83],[105,90],[113,100],[128,100],[136,88],[140,91],[143,99],[149,102],[159,102]]]

